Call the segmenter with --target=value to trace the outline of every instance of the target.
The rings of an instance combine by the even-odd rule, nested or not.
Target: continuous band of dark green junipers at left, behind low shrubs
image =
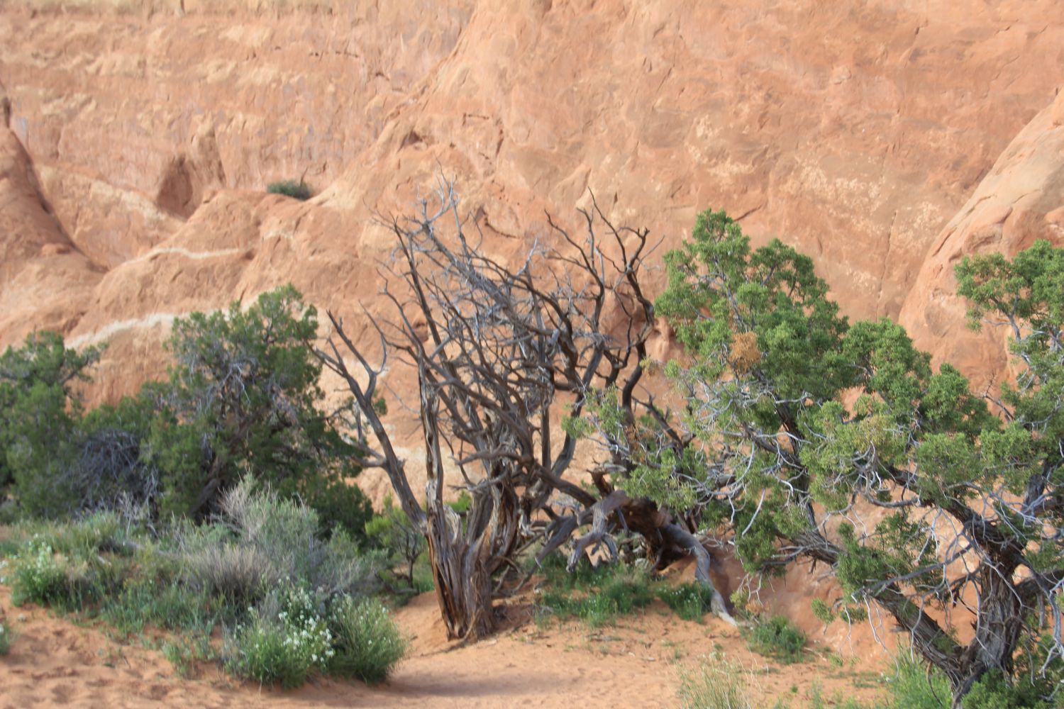
[[[351,404],[326,409],[310,342],[316,311],[285,286],[242,308],[173,323],[167,382],[87,413],[71,389],[99,357],[55,334],[0,356],[0,495],[60,518],[146,507],[204,519],[245,474],[319,512],[322,533],[362,538],[371,510],[348,479]]]

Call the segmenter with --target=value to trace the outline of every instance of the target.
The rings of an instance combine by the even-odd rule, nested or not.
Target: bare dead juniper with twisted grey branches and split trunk
[[[492,630],[493,575],[517,569],[517,554],[531,542],[545,539],[546,554],[596,517],[593,533],[601,540],[625,523],[633,503],[601,471],[594,491],[567,479],[578,436],[559,421],[563,412],[579,418],[588,396],[604,390],[619,391],[625,417],[634,418],[653,323],[639,283],[648,232],[614,227],[597,205],[582,215],[582,238],[548,217],[558,248],[537,243],[508,265],[483,253],[460,216],[453,185],[442,182],[415,218],[389,224],[396,251],[383,297],[393,315],[373,321],[380,365],[330,314],[334,335],[319,357],[347,383],[364,417],[361,465],[384,469],[402,509],[428,537],[451,638]],[[417,372],[423,508],[373,407],[388,352]],[[464,519],[444,503],[448,487],[468,491]],[[569,513],[555,510],[560,499]],[[641,530],[654,543],[694,545],[704,555],[651,503],[641,505]]]

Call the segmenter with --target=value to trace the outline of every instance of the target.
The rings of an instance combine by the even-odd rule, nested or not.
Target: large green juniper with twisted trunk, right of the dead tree
[[[689,355],[665,367],[689,438],[648,425],[621,485],[730,526],[750,571],[827,564],[843,595],[819,614],[885,611],[954,706],[974,687],[1020,692],[1017,657],[1042,632],[1025,686],[1059,668],[1064,251],[1037,242],[957,269],[972,322],[1011,328],[1021,371],[1000,398],[935,370],[896,323],[849,324],[809,257],[778,240],[752,250],[722,212],[700,215],[666,266],[656,309]]]

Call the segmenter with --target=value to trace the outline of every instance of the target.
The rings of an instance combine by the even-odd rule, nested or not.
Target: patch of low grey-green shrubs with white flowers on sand
[[[405,648],[387,611],[366,597],[376,556],[250,478],[198,526],[153,533],[113,512],[23,523],[5,561],[17,605],[99,618],[126,637],[169,631],[164,651],[182,675],[219,659],[238,676],[283,687],[313,672],[373,682]],[[211,641],[219,624],[221,647]]]

